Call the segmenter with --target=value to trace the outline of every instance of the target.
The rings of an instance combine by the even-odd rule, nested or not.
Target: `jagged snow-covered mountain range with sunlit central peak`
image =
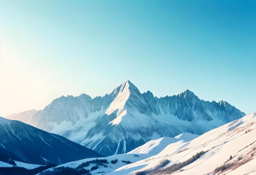
[[[102,155],[127,153],[152,139],[183,132],[201,135],[245,113],[225,101],[209,102],[186,90],[157,98],[126,81],[112,93],[61,96],[28,124],[66,137]]]

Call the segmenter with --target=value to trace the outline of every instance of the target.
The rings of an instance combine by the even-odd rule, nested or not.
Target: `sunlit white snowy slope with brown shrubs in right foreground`
[[[123,166],[109,174],[256,174],[255,135],[256,113],[253,113],[206,132],[187,143],[178,141],[170,144],[155,156]],[[204,153],[194,162],[183,164],[177,170],[171,171],[174,165],[182,165],[201,151]]]

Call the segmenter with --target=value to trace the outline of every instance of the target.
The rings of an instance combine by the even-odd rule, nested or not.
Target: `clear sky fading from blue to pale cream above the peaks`
[[[0,0],[0,116],[127,80],[256,112],[256,1]]]

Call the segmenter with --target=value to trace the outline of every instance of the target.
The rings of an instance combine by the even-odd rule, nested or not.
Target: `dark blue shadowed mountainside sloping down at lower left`
[[[59,135],[0,117],[0,161],[29,164],[63,164],[98,153]]]

